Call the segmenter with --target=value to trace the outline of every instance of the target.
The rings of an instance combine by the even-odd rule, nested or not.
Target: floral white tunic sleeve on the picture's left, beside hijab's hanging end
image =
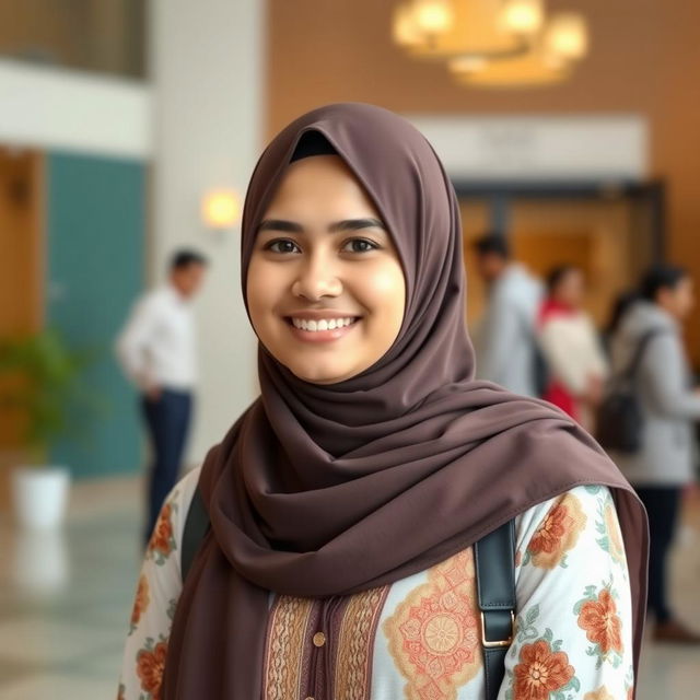
[[[180,542],[200,468],[165,499],[147,547],[124,650],[118,700],[159,698],[175,606],[183,588]]]

